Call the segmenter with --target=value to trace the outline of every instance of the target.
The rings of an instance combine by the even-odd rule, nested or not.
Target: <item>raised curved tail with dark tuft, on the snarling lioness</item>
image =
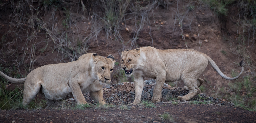
[[[230,77],[227,77],[226,75],[224,75],[224,74],[220,71],[219,67],[215,64],[215,62],[214,62],[209,56],[207,57],[207,59],[208,59],[209,64],[212,66],[212,68],[213,68],[222,78],[227,79],[227,80],[236,80],[236,79],[238,79],[238,78],[242,75],[242,73],[243,73],[243,71],[244,71],[244,67],[246,66],[246,64],[245,64],[244,61],[242,60],[242,61],[239,63],[240,66],[242,67],[241,72],[240,72],[236,77],[230,78]]]

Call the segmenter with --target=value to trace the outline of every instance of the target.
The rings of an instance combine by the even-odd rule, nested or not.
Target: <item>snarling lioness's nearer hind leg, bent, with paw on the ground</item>
[[[178,100],[180,101],[188,101],[189,99],[191,99],[192,97],[194,97],[195,95],[201,93],[200,89],[198,88],[198,86],[196,85],[197,82],[195,81],[195,79],[187,79],[185,78],[184,83],[187,85],[187,88],[189,89],[189,93],[183,97],[178,96]]]

